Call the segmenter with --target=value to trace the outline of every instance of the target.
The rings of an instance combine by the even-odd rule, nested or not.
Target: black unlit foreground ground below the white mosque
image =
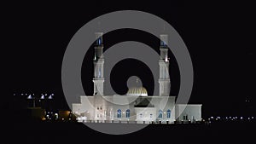
[[[107,135],[71,122],[15,122],[8,143],[254,143],[255,123],[149,124],[128,135]],[[253,142],[254,141],[254,142]]]

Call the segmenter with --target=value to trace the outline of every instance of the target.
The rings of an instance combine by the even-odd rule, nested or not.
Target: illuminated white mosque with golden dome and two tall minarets
[[[172,124],[201,121],[201,104],[175,104],[170,93],[167,35],[160,35],[160,94],[148,95],[147,89],[130,88],[126,95],[103,95],[104,58],[102,32],[96,33],[94,58],[94,95],[81,95],[80,103],[73,103],[73,114],[84,123]],[[181,111],[183,110],[183,112]]]

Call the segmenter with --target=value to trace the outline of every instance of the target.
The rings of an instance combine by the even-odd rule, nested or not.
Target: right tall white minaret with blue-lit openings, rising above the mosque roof
[[[160,35],[160,96],[170,95],[169,58],[168,58],[168,35]]]

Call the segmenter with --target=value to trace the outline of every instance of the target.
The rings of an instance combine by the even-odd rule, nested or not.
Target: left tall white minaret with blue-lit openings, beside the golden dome
[[[104,57],[103,53],[103,39],[102,32],[96,32],[96,45],[94,55],[94,93],[93,95],[103,95],[103,83],[104,83]]]

